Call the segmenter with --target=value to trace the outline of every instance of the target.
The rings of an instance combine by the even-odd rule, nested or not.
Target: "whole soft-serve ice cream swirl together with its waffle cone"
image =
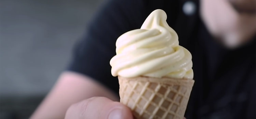
[[[165,11],[154,10],[140,29],[117,38],[110,60],[120,102],[138,119],[183,119],[194,85],[192,55],[166,19]]]

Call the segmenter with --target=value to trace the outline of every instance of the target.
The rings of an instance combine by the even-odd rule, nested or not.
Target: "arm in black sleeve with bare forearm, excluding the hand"
[[[118,100],[109,90],[118,91],[119,88],[117,78],[111,75],[109,61],[115,55],[116,39],[129,30],[139,28],[140,22],[145,19],[142,17],[145,14],[142,13],[142,3],[139,2],[141,1],[111,0],[102,7],[89,24],[85,38],[76,44],[68,68],[72,72],[60,75],[32,119],[64,118],[71,104],[95,96]]]

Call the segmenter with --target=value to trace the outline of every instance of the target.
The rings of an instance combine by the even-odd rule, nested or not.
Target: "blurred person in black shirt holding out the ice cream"
[[[255,119],[255,0],[110,0],[74,48],[73,59],[31,119],[131,119],[109,61],[115,41],[154,10],[193,56],[187,119]]]

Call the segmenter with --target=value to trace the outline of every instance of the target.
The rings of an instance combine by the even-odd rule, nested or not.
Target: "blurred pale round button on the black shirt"
[[[187,1],[184,3],[182,9],[183,9],[184,14],[186,14],[188,16],[193,15],[196,11],[196,5],[192,1]]]

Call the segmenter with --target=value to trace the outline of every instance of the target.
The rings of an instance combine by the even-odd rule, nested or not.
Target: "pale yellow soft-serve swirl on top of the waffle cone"
[[[118,37],[116,55],[110,61],[113,76],[193,79],[192,56],[179,46],[178,35],[166,19],[163,10],[155,10],[141,29]]]

